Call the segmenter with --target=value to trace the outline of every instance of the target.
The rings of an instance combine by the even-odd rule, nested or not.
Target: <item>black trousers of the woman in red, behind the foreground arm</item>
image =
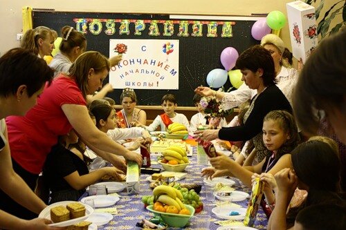
[[[12,159],[13,169],[15,172],[28,184],[30,189],[35,191],[36,182],[38,175],[29,173],[25,169],[23,169],[15,160]],[[23,200],[26,199],[25,197],[22,198]],[[12,200],[6,193],[4,193],[0,189],[0,209],[2,211],[6,211],[7,213],[10,213],[12,215],[17,216],[18,218],[31,220],[33,218],[37,218],[37,214],[33,213],[32,211],[29,211],[28,209],[22,207],[20,204],[15,202],[15,200]]]

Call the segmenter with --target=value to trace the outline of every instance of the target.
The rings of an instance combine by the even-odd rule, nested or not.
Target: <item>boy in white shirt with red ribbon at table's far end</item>
[[[186,118],[186,116],[182,113],[174,112],[174,109],[176,109],[176,106],[178,106],[176,104],[176,98],[174,95],[170,93],[164,95],[161,99],[161,106],[165,113],[158,115],[152,124],[145,126],[144,124],[138,123],[137,126],[143,127],[149,132],[156,131],[158,126],[160,126],[161,131],[167,131],[168,126],[175,122],[183,124],[186,128],[188,128],[188,131],[190,130],[188,118]]]

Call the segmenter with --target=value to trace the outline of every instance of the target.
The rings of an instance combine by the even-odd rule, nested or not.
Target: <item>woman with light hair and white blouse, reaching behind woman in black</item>
[[[284,93],[290,104],[292,104],[292,93],[295,82],[298,79],[298,71],[283,65],[282,54],[284,52],[284,42],[277,35],[269,34],[262,38],[261,46],[271,52],[271,57],[273,57],[275,65],[277,87],[282,90],[282,93]],[[230,93],[215,91],[203,86],[197,87],[195,92],[203,96],[215,95],[218,99],[222,100],[226,110],[239,106],[248,99],[252,99],[256,94],[256,91],[246,86],[246,84],[242,84],[237,90],[233,90]]]

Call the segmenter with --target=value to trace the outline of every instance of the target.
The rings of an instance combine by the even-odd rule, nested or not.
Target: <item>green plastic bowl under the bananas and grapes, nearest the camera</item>
[[[172,227],[185,227],[189,220],[194,215],[194,208],[190,205],[185,204],[185,208],[190,211],[190,215],[174,214],[174,213],[163,213],[161,211],[155,211],[153,205],[147,206],[147,210],[151,211],[155,215],[161,215],[163,221]]]

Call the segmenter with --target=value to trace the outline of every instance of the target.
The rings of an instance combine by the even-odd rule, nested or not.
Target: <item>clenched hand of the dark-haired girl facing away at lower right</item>
[[[291,169],[282,169],[278,171],[275,176],[275,181],[277,184],[277,189],[281,193],[291,193],[295,191],[295,188],[298,185],[298,178],[295,175],[294,171]]]

